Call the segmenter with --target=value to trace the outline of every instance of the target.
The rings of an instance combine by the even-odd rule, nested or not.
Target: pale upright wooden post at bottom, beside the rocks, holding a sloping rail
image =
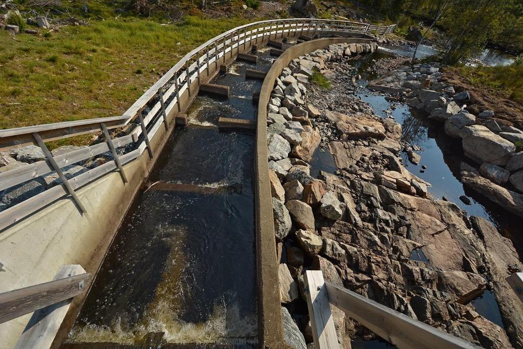
[[[321,271],[308,270],[304,276],[305,295],[311,319],[315,349],[339,348],[334,318]]]

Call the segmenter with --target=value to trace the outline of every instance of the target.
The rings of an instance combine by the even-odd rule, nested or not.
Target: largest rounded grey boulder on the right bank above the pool
[[[466,126],[460,131],[463,151],[477,163],[488,162],[506,165],[516,147],[514,143],[498,136],[485,126]]]

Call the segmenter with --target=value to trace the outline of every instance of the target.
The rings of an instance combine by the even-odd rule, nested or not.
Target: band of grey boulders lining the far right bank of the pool
[[[456,93],[441,82],[438,63],[402,66],[368,86],[424,110],[442,123],[445,133],[461,139],[464,155],[461,181],[504,209],[523,217],[523,131],[496,121],[494,112],[467,111],[470,94]]]

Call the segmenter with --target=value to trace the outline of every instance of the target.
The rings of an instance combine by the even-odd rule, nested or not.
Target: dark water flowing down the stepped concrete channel
[[[156,154],[64,347],[256,343],[255,137],[217,124],[255,120],[261,82],[245,80],[245,69],[267,71],[273,60],[259,56],[215,77],[230,98],[197,97],[189,125]]]

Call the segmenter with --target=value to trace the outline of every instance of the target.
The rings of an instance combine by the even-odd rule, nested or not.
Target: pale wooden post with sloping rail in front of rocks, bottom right
[[[331,305],[400,349],[479,348],[353,291],[325,282],[321,271],[305,272],[305,293],[316,349],[339,348]]]

